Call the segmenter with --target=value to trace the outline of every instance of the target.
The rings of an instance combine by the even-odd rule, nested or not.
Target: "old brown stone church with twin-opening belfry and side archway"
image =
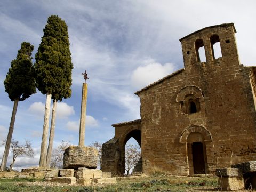
[[[235,33],[227,23],[180,39],[184,68],[135,93],[141,119],[112,125],[115,137],[102,145],[103,172],[124,174],[131,137],[141,147],[145,174],[211,174],[230,162],[255,161],[256,67],[239,62]],[[221,57],[215,58],[218,42]]]

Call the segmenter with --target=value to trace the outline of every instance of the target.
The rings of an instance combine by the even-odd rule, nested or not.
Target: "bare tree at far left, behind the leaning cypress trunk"
[[[6,140],[3,142],[3,145],[5,145]],[[12,139],[11,141],[11,150],[13,153],[12,157],[12,163],[10,165],[10,170],[12,171],[12,168],[14,166],[14,162],[16,161],[16,158],[19,155],[26,155],[29,157],[34,157],[34,151],[31,145],[31,142],[28,140],[25,140],[25,144],[22,145],[19,141],[16,141],[15,139]]]

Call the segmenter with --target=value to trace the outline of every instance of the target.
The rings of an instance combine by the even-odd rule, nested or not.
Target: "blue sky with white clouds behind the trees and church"
[[[13,108],[3,84],[10,62],[23,41],[35,46],[34,57],[50,15],[59,15],[68,25],[74,64],[72,96],[57,106],[54,146],[61,140],[78,145],[85,70],[90,78],[85,133],[85,145],[89,145],[113,138],[111,124],[140,118],[140,100],[134,92],[183,68],[179,39],[193,31],[234,22],[240,61],[255,65],[255,7],[253,0],[1,1],[1,143]],[[18,104],[13,138],[30,140],[36,155],[17,158],[16,167],[38,165],[45,99],[37,91]],[[0,146],[1,161],[4,146]]]

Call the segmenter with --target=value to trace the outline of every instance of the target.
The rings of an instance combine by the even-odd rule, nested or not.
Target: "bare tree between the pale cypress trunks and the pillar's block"
[[[63,166],[63,154],[66,148],[70,146],[70,142],[61,141],[57,148],[52,150],[52,157],[51,157],[51,168],[62,168]]]

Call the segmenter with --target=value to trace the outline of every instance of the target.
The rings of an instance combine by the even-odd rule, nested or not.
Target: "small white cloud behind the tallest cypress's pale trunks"
[[[44,117],[44,110],[45,110],[45,104],[42,102],[34,102],[33,104],[30,105],[28,108],[28,111],[33,114],[38,116],[39,118]],[[51,105],[51,111],[52,111],[52,105]],[[51,112],[50,112],[51,114]],[[67,118],[70,115],[74,115],[75,110],[73,106],[69,106],[65,102],[58,102],[57,103],[57,109],[56,109],[56,117],[57,118]]]

